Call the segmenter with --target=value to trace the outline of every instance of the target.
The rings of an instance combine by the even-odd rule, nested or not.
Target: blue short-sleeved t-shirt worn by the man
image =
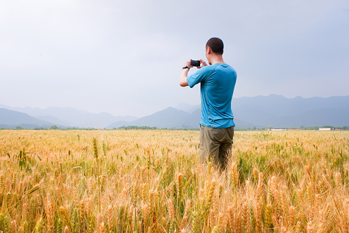
[[[215,129],[235,126],[231,103],[237,72],[230,65],[215,63],[202,67],[186,77],[186,82],[191,88],[201,83],[201,125]]]

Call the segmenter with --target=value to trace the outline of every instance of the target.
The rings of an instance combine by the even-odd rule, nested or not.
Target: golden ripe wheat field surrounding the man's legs
[[[2,232],[349,232],[349,132],[0,131]]]

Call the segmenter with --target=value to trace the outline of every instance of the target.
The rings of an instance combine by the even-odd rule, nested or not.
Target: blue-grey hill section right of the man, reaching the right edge
[[[232,111],[234,118],[261,126],[346,126],[349,125],[349,96],[233,98]]]

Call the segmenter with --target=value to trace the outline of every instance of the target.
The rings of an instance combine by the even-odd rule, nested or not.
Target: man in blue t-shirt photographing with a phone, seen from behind
[[[218,168],[226,168],[234,136],[234,116],[231,102],[237,72],[224,63],[224,44],[220,38],[210,38],[206,43],[208,65],[200,59],[200,67],[188,76],[191,60],[184,63],[180,76],[181,87],[194,87],[200,82],[200,160],[206,162],[212,157]]]

